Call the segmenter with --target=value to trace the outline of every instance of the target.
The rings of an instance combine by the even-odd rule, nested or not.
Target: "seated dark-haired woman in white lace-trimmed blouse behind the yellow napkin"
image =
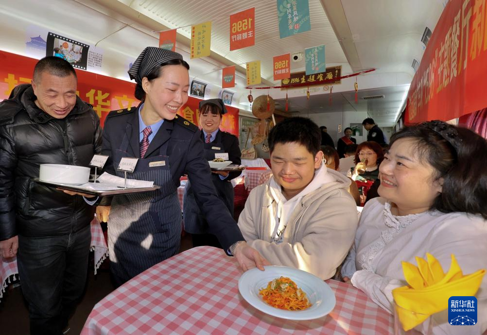
[[[362,211],[341,269],[345,282],[392,313],[392,290],[407,284],[401,261],[416,264],[429,252],[447,271],[454,254],[464,274],[487,268],[485,139],[441,121],[406,127],[379,169],[380,197]],[[476,297],[478,322],[468,334],[487,329],[487,278]],[[434,318],[435,334],[458,334],[447,311]]]

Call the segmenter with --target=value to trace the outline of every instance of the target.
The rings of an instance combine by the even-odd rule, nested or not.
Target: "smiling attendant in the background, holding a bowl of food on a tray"
[[[215,159],[215,154],[228,155],[225,160],[231,160],[232,164],[240,165],[239,140],[235,135],[220,130],[223,115],[227,112],[222,99],[209,99],[201,101],[200,125],[202,127],[201,139],[204,142],[205,159]],[[231,179],[240,176],[241,172],[213,172],[211,181],[215,185],[218,197],[225,203],[226,208],[233,216],[233,186]],[[191,233],[193,247],[213,246],[222,247],[213,234],[209,234],[208,223],[201,215],[194,197],[191,182],[187,182],[184,194],[184,227]]]

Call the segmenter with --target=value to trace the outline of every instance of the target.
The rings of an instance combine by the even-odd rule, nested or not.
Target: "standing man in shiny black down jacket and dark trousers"
[[[0,103],[0,257],[17,255],[31,334],[62,334],[86,282],[94,207],[31,180],[39,164],[88,166],[100,120],[76,96],[76,72],[41,59],[32,85]]]

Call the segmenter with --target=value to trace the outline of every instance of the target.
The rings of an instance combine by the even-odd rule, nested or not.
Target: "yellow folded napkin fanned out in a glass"
[[[416,257],[418,266],[402,262],[404,278],[409,285],[393,289],[394,301],[404,309],[398,308],[397,313],[405,331],[447,309],[450,297],[475,295],[486,272],[482,269],[464,275],[452,254],[450,270],[444,273],[436,258],[429,253],[426,256],[427,261]]]

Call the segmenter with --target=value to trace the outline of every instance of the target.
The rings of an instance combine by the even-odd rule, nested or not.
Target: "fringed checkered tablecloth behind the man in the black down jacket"
[[[103,230],[96,217],[91,222],[92,240],[90,250],[94,251],[94,274],[100,264],[108,257],[108,247],[103,236]],[[17,257],[4,259],[0,257],[0,300],[3,297],[5,288],[11,282],[11,279],[15,280],[16,275],[19,273],[17,268]],[[10,276],[14,276],[10,278]]]

